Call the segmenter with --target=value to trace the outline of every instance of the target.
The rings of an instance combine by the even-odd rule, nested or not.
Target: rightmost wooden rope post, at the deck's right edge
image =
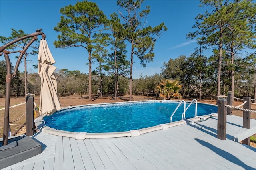
[[[244,97],[244,109],[251,109],[251,98]],[[251,128],[251,112],[243,111],[243,128]],[[243,140],[243,144],[250,146],[250,137]]]

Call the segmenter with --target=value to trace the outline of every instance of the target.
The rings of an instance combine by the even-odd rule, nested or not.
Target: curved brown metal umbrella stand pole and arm
[[[27,36],[23,36],[21,38],[17,38],[16,40],[13,40],[12,42],[7,43],[6,45],[3,45],[0,47],[0,55],[2,55],[2,53],[4,53],[4,58],[6,61],[6,69],[7,69],[7,73],[6,73],[6,95],[5,95],[5,110],[4,110],[4,132],[3,132],[3,145],[7,145],[8,144],[8,129],[9,129],[9,107],[10,107],[10,88],[11,88],[11,81],[12,78],[16,78],[16,72],[18,71],[18,67],[20,64],[20,61],[22,59],[22,56],[24,55],[24,53],[26,52],[26,50],[28,49],[28,47],[37,39],[36,36],[38,35],[42,35],[42,38],[44,39],[46,36],[44,35],[43,32],[41,32],[42,29],[38,29],[36,30],[35,33],[29,34]],[[24,48],[24,50],[21,52],[20,57],[18,58],[18,61],[16,63],[16,66],[14,68],[14,75],[12,75],[12,69],[11,69],[11,63],[10,63],[10,58],[9,58],[9,51],[6,51],[5,49],[7,47],[9,47],[10,45],[24,40],[26,38],[30,38],[30,37],[34,37]],[[35,39],[36,38],[36,39]]]

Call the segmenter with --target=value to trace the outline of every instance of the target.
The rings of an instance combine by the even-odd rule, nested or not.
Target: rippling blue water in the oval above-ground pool
[[[146,101],[82,106],[56,111],[44,117],[44,121],[46,126],[70,132],[124,132],[170,123],[170,116],[177,105],[175,101]],[[181,120],[183,108],[183,104],[180,105],[172,122]],[[216,112],[216,106],[198,103],[198,116]],[[192,104],[186,111],[186,118],[194,115],[195,104]]]

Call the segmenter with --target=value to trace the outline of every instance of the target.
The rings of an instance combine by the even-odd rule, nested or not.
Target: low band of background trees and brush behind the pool
[[[191,55],[186,57],[181,55],[175,59],[170,59],[167,63],[163,63],[162,72],[155,75],[140,75],[139,78],[133,79],[132,94],[144,95],[148,97],[159,97],[157,86],[162,82],[161,80],[172,79],[177,80],[182,85],[180,94],[182,98],[186,99],[216,99],[217,91],[217,55],[211,56],[207,59],[206,56],[201,56],[200,60]],[[215,58],[215,59],[214,59]],[[235,63],[238,68],[235,71],[235,91],[234,97],[250,96],[255,98],[256,91],[256,62],[251,55],[246,59],[236,58]],[[201,65],[202,67],[198,67]],[[227,95],[231,87],[231,77],[228,69],[223,67],[221,94]],[[0,61],[0,96],[4,97],[5,93],[5,61]],[[111,73],[111,71],[110,71]],[[11,95],[24,96],[24,78],[25,73],[18,72],[18,78],[12,82]],[[78,70],[69,71],[67,69],[57,70],[56,78],[58,81],[58,96],[64,95],[88,95],[89,84],[88,74],[81,73]],[[27,75],[27,89],[29,93],[40,95],[41,80],[38,73],[28,73]],[[127,76],[120,76],[118,80],[118,94],[122,96],[130,93],[129,78]],[[100,88],[102,89],[100,90]],[[100,90],[101,93],[98,93]],[[97,71],[92,71],[92,93],[94,95],[113,95],[115,94],[115,77],[104,72],[102,76]]]

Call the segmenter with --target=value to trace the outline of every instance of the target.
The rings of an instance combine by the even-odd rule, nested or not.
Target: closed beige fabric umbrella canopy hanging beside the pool
[[[54,75],[56,67],[52,65],[56,62],[44,39],[40,41],[38,62],[38,74],[41,77],[39,112],[41,115],[50,115],[60,110],[61,106],[57,96],[57,80]]]

